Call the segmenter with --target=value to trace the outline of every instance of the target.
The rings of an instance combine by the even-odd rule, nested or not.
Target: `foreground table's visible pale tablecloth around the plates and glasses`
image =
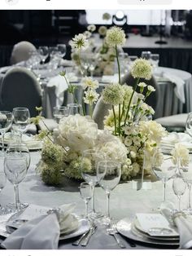
[[[37,175],[35,166],[40,159],[40,152],[31,152],[31,165],[28,174],[24,181],[20,183],[20,201],[28,202],[29,204],[44,205],[50,208],[55,206],[76,203],[76,214],[84,214],[85,204],[82,201],[79,192],[79,182],[65,179],[63,185],[59,188],[46,186],[42,183],[40,177]],[[111,217],[119,221],[122,218],[129,217],[133,219],[136,213],[149,213],[152,209],[156,209],[162,199],[162,183],[160,181],[153,182],[151,189],[135,190],[132,182],[120,183],[114,191],[111,192]],[[185,192],[187,194],[187,192]],[[186,196],[186,195],[184,195]],[[95,190],[96,210],[105,213],[106,210],[106,196],[102,188]],[[185,198],[186,199],[186,198]],[[7,181],[5,188],[1,192],[1,204],[14,200],[14,191],[11,183]],[[177,196],[172,192],[172,180],[168,181],[167,200],[172,201],[178,205]],[[183,207],[186,205],[183,202]],[[135,248],[129,246],[129,241],[121,237],[126,245],[126,249],[156,249],[165,248],[164,246],[149,247],[149,245],[137,244]],[[60,241],[59,249],[120,249],[116,245],[113,236],[109,236],[102,226],[98,226],[94,236],[91,237],[89,244],[86,247],[73,246],[72,242],[76,238],[68,241]],[[168,247],[166,247],[168,248]],[[172,247],[168,249],[173,249]]]

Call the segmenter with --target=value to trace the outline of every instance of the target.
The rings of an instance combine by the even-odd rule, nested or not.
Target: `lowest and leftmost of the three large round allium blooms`
[[[119,83],[113,83],[105,87],[102,92],[103,101],[106,104],[122,104],[124,100],[124,90],[122,90],[122,86]]]

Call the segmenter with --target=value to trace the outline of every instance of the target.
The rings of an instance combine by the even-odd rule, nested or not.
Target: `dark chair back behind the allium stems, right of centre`
[[[136,78],[134,78],[131,73],[125,75],[121,81],[122,84],[127,84],[128,86],[135,86],[135,82],[136,82]],[[149,106],[151,106],[152,108],[154,108],[154,110],[158,110],[159,107],[159,95],[160,95],[160,90],[159,90],[159,85],[155,80],[155,77],[152,76],[150,80],[146,80],[146,79],[140,79],[139,82],[145,82],[147,86],[153,86],[155,88],[155,92],[152,92],[151,95],[149,95],[146,98],[146,104],[148,104]],[[145,94],[145,90],[144,89],[144,94]],[[137,92],[139,92],[137,90]],[[155,115],[154,115],[155,118]]]

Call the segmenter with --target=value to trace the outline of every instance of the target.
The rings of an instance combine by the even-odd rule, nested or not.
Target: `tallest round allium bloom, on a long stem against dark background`
[[[108,29],[106,41],[109,46],[124,46],[126,41],[124,30],[116,26]]]

